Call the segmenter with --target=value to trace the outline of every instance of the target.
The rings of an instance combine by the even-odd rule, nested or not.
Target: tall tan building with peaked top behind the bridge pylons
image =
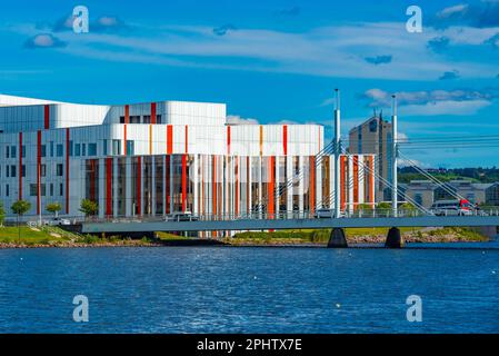
[[[349,132],[349,152],[352,155],[376,155],[377,174],[388,181],[391,177],[391,123],[382,118],[382,112],[352,128]],[[377,179],[377,201],[387,200],[381,180]],[[391,194],[389,195],[391,197]],[[391,199],[391,198],[390,198]]]

